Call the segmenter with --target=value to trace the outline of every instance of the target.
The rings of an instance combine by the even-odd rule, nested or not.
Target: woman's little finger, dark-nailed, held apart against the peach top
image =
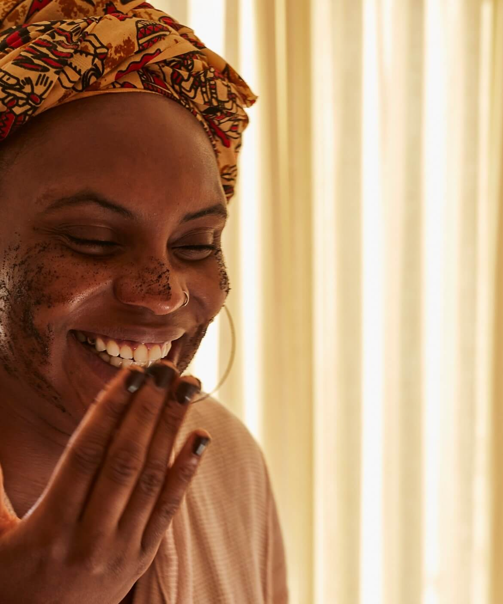
[[[152,555],[159,547],[159,542],[178,510],[210,440],[211,436],[205,430],[198,429],[193,432],[169,469],[141,539],[145,554]]]

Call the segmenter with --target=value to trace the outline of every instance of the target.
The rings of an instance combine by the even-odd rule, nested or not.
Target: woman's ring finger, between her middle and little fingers
[[[189,403],[197,398],[199,393],[200,382],[195,377],[177,378],[173,382],[164,409],[159,416],[146,462],[120,519],[120,530],[124,534],[132,536],[136,533],[135,536],[138,538],[143,535],[144,527],[166,479],[176,435]]]

